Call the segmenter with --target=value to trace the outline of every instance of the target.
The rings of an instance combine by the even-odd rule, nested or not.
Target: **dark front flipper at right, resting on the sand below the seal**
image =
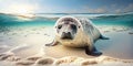
[[[100,56],[102,55],[101,52],[99,52],[94,46],[92,48],[90,48],[89,46],[85,47],[85,53],[88,55],[92,55],[92,56]]]

